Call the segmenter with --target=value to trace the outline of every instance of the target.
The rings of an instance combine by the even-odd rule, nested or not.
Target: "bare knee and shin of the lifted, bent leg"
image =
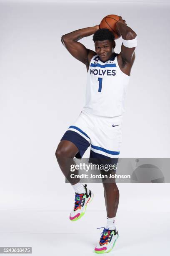
[[[80,179],[70,178],[70,174],[72,173],[70,172],[70,165],[75,164],[73,158],[78,152],[78,148],[71,141],[60,141],[55,152],[62,173],[72,185],[80,181]],[[74,174],[78,174],[78,170],[74,171]]]

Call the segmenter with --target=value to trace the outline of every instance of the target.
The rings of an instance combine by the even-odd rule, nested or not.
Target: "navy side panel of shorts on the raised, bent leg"
[[[61,141],[71,141],[79,149],[79,152],[75,155],[76,158],[81,159],[90,143],[75,131],[66,131]]]

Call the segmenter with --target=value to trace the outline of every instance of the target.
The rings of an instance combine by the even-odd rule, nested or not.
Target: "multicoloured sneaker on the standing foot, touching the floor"
[[[115,230],[109,230],[104,228],[101,233],[100,241],[95,247],[95,253],[107,253],[115,246],[115,242],[119,237],[118,232]]]

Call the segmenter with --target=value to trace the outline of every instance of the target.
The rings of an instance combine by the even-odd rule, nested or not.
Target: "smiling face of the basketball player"
[[[95,41],[95,51],[96,54],[100,56],[102,61],[107,61],[112,56],[114,52],[115,42],[111,42],[109,40],[104,41]]]

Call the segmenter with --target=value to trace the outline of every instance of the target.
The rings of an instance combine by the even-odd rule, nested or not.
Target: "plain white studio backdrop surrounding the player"
[[[97,25],[110,13],[126,20],[138,35],[138,47],[126,97],[120,157],[168,158],[170,5],[168,1],[24,2],[0,1],[0,209],[5,213],[62,208],[69,215],[74,195],[60,172],[55,149],[84,105],[87,72],[60,38]],[[94,50],[92,36],[81,42]],[[120,52],[121,43],[122,39],[116,41],[115,52]],[[89,150],[84,157],[88,156]],[[90,187],[96,195],[93,210],[102,211],[105,220],[102,185]],[[170,211],[169,184],[118,187],[119,224],[122,218],[125,221],[123,212],[127,208],[145,211],[146,215]],[[56,214],[60,216],[60,212]],[[67,223],[68,231],[71,227]],[[40,226],[32,232],[40,229],[45,232]],[[52,232],[57,229],[56,225]],[[1,230],[18,228],[8,230],[3,220]],[[23,226],[21,230],[30,229]]]

